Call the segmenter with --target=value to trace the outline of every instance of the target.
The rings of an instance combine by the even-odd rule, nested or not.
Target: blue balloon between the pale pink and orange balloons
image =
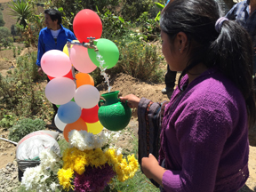
[[[65,124],[72,124],[81,116],[81,108],[76,102],[69,101],[58,109],[60,121]]]

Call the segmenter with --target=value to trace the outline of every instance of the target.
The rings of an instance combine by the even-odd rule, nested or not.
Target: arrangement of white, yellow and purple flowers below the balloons
[[[63,153],[63,164],[60,164],[60,157],[52,150],[44,150],[39,156],[40,165],[26,169],[21,181],[26,189],[101,191],[112,178],[128,180],[139,168],[134,155],[124,158],[120,150],[106,148],[104,132],[93,135],[72,130],[68,133],[68,139],[70,148],[66,148]]]

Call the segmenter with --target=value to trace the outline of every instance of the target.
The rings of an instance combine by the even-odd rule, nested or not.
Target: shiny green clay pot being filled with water
[[[101,96],[105,100],[99,101],[98,116],[100,124],[110,131],[119,131],[124,129],[130,122],[132,110],[117,98],[118,92],[108,92]]]

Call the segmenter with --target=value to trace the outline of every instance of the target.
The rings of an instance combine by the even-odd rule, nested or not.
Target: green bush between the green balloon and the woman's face
[[[156,46],[133,41],[119,47],[120,59],[117,63],[123,71],[142,81],[162,82],[163,71],[159,70],[159,55]]]

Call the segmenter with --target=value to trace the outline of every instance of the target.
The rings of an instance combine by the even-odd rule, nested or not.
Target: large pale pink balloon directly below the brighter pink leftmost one
[[[76,93],[76,84],[67,77],[52,79],[45,87],[45,96],[55,105],[63,105],[72,100]]]

